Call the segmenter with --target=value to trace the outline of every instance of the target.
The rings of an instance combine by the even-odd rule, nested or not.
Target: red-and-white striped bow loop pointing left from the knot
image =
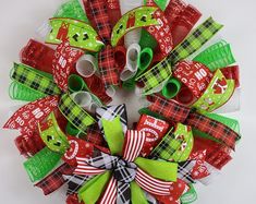
[[[76,157],[77,167],[74,170],[74,175],[95,176],[106,171],[106,169],[99,169],[88,165],[85,157]]]

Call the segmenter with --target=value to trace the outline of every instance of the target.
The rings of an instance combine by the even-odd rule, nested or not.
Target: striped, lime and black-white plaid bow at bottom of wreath
[[[105,122],[102,123],[103,130],[109,129],[110,125],[106,125]],[[101,197],[99,203],[102,204],[131,203],[130,200],[132,200],[132,203],[136,203],[136,201],[143,202],[142,199],[145,199],[142,189],[155,195],[169,195],[172,185],[171,181],[176,180],[178,165],[169,161],[150,160],[138,157],[146,140],[145,132],[129,130],[123,139],[120,120],[113,123],[115,124],[114,129],[117,129],[117,124],[119,124],[121,130],[119,137],[124,141],[118,141],[118,144],[121,144],[121,152],[118,151],[118,153],[117,148],[111,149],[112,145],[109,144],[110,151],[112,154],[115,152],[117,155],[122,156],[95,151],[90,158],[76,157],[78,165],[74,170],[75,175],[97,175],[92,179],[93,181],[90,180],[80,190],[80,199],[86,204],[98,201],[99,196]],[[105,131],[105,136],[108,143],[111,143],[112,141],[108,140],[111,134],[106,135],[106,133],[109,134],[109,130]],[[103,183],[108,183],[105,192],[102,195],[101,192],[98,192],[88,197],[88,192],[99,188],[99,182],[97,182],[99,180]],[[102,183],[100,185],[102,185]],[[103,191],[103,188],[100,190]]]

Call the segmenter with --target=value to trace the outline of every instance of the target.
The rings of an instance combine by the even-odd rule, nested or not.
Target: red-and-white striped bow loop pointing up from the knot
[[[123,158],[133,161],[139,155],[146,140],[145,132],[129,130],[125,136]]]

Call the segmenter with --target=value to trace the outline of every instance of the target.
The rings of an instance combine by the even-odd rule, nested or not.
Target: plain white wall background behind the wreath
[[[9,72],[19,60],[20,49],[34,36],[42,21],[49,19],[62,0],[0,0],[0,125],[8,119],[10,107],[17,105],[8,96]],[[221,36],[232,44],[241,67],[242,106],[232,113],[240,119],[243,139],[236,147],[234,159],[208,187],[197,187],[196,204],[256,203],[256,1],[255,0],[190,0],[206,19],[212,15],[224,24]],[[129,101],[132,118],[135,105]],[[120,101],[122,103],[122,101]],[[136,118],[136,115],[133,116]],[[64,191],[44,196],[33,188],[13,144],[16,132],[2,131],[0,135],[0,203],[4,204],[59,204],[64,203]]]

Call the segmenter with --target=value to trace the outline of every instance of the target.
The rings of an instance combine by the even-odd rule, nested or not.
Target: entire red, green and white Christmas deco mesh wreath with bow
[[[29,179],[46,195],[66,183],[68,204],[194,202],[241,137],[212,113],[240,86],[230,45],[204,46],[222,25],[195,27],[182,0],[83,5],[62,4],[38,29],[52,46],[31,39],[11,71],[11,98],[29,104],[4,128],[20,131]],[[132,130],[125,105],[109,106],[118,87],[148,100]]]

